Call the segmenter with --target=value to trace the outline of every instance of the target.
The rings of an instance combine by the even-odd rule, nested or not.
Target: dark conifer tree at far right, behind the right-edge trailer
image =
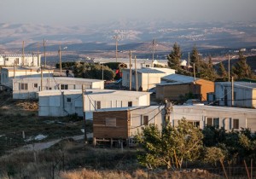
[[[232,73],[236,78],[252,78],[251,67],[247,65],[247,58],[239,51],[239,58],[235,66],[232,67]]]

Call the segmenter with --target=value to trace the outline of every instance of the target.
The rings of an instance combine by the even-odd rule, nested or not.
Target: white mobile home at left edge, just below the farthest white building
[[[43,77],[52,77],[53,70],[43,70]],[[14,78],[40,78],[41,70],[38,67],[3,67],[1,68],[1,84],[13,88]]]

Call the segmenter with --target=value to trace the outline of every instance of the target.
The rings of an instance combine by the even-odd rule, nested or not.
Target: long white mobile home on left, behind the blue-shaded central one
[[[42,78],[42,90],[104,89],[104,81],[87,78],[50,77]],[[41,91],[41,78],[13,79],[13,99],[33,99]]]

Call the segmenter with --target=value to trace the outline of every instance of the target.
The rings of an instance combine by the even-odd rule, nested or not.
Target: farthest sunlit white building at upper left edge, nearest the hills
[[[40,66],[41,55],[0,54],[0,66]]]

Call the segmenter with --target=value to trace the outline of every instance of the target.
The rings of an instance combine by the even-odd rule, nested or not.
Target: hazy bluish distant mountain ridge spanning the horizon
[[[115,48],[113,36],[119,35],[123,49],[148,49],[156,39],[159,50],[177,42],[183,50],[196,44],[200,49],[247,48],[256,46],[255,22],[173,23],[167,21],[119,21],[105,25],[45,26],[0,23],[0,49],[26,49],[47,40],[48,49],[68,45],[73,50],[108,50]],[[133,46],[131,48],[131,46]],[[129,47],[129,48],[128,48]],[[120,48],[121,49],[121,48]]]

